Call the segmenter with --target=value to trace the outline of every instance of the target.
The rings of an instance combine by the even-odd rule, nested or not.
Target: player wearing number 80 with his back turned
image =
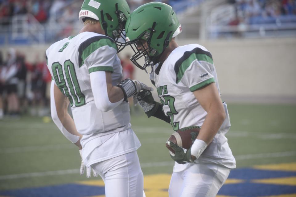
[[[131,129],[127,98],[153,89],[137,80],[121,81],[116,43],[123,45],[118,38],[129,15],[125,0],[85,0],[79,13],[84,23],[80,33],[46,51],[53,79],[52,119],[64,136],[82,148],[85,166],[105,182],[106,197],[143,196],[136,152],[141,144]]]

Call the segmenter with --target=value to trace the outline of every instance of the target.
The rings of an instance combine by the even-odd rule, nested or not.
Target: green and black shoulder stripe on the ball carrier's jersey
[[[213,63],[212,54],[200,48],[195,48],[191,51],[186,51],[184,55],[175,63],[174,70],[176,73],[176,83],[179,83],[186,71],[186,69],[195,60],[207,61]]]

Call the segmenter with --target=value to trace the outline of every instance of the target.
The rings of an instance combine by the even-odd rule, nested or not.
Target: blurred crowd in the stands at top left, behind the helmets
[[[181,1],[181,0],[170,0]],[[46,42],[54,42],[72,36],[80,30],[78,14],[82,0],[0,0],[0,32],[9,30],[12,18],[27,14],[22,20],[29,23],[33,16],[44,28]],[[130,9],[152,0],[127,0]],[[169,3],[169,0],[161,0]],[[29,17],[30,16],[30,17]],[[9,34],[9,33],[8,33]],[[9,35],[8,35],[9,37]]]

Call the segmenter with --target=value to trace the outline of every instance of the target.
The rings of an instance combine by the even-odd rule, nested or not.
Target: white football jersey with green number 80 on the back
[[[52,79],[70,100],[76,129],[83,135],[80,142],[84,158],[108,140],[112,136],[110,134],[130,128],[130,109],[127,102],[103,112],[97,109],[92,93],[89,73],[112,72],[113,86],[122,80],[117,45],[112,38],[83,32],[55,42],[47,49],[46,56]]]

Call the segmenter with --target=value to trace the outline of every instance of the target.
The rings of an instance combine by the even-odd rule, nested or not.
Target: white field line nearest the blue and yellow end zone
[[[257,159],[257,158],[286,157],[286,156],[295,156],[295,155],[296,155],[295,151],[290,151],[290,152],[238,155],[238,156],[235,156],[235,158],[236,160],[248,160],[248,159]],[[174,164],[173,161],[149,162],[149,163],[142,163],[141,167],[148,168],[148,167],[159,167],[159,166],[173,166],[173,164]],[[32,173],[23,173],[23,174],[14,174],[14,175],[2,175],[0,176],[0,180],[51,176],[51,175],[78,174],[78,173],[79,173],[79,169],[47,171],[47,172],[32,172]]]

